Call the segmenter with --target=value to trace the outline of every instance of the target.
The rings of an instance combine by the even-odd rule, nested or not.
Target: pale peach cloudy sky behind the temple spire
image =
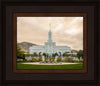
[[[44,45],[50,28],[56,45],[83,50],[83,17],[17,17],[17,42]]]

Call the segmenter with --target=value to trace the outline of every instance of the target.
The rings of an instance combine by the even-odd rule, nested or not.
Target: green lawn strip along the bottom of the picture
[[[17,63],[17,69],[83,69],[83,64],[33,65]]]

